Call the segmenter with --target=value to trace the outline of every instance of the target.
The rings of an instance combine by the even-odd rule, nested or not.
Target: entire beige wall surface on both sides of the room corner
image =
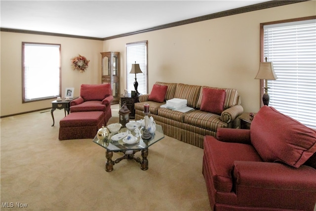
[[[149,92],[156,81],[236,88],[245,112],[260,108],[260,23],[316,15],[316,1],[263,9],[109,41],[90,41],[1,32],[1,116],[50,106],[50,100],[22,104],[21,42],[62,44],[62,89],[98,84],[102,51],[120,52],[120,90],[126,88],[125,44],[148,40]],[[103,46],[102,46],[103,43]],[[80,53],[86,73],[71,69]],[[63,94],[63,93],[62,93]]]

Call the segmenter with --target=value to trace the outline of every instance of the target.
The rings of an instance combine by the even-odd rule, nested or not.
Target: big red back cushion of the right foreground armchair
[[[316,130],[273,107],[263,106],[259,110],[250,126],[250,138],[265,162],[298,168],[316,152]]]

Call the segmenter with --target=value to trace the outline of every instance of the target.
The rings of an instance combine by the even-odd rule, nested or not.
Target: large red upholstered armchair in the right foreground
[[[313,211],[316,130],[264,106],[250,130],[205,136],[202,172],[212,211]]]

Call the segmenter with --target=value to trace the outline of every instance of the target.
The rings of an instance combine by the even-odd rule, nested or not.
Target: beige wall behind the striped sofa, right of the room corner
[[[244,111],[257,112],[260,23],[312,15],[316,1],[307,1],[113,39],[104,49],[122,52],[125,82],[125,44],[148,40],[149,92],[157,81],[236,88]]]

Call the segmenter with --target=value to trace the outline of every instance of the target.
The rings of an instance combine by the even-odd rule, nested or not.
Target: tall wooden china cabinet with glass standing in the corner
[[[119,52],[102,52],[102,81],[112,87],[112,104],[119,103]]]

